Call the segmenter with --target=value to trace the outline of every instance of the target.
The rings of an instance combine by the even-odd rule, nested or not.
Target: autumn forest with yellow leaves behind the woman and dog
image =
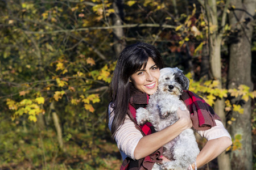
[[[255,0],[1,0],[0,8],[0,169],[119,169],[109,83],[118,54],[138,41],[184,70],[232,136],[201,169],[256,169]]]

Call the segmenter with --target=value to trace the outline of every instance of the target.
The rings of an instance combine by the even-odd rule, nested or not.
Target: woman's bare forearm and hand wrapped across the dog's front
[[[188,111],[177,111],[179,120],[175,124],[156,133],[146,135],[141,138],[134,150],[134,158],[141,159],[152,154],[166,143],[176,138],[183,130],[192,127],[190,114]]]

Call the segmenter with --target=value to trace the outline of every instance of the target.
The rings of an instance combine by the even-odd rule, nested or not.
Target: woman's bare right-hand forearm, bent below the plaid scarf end
[[[225,151],[230,145],[232,145],[232,141],[229,137],[220,137],[207,141],[196,158],[197,167],[207,164]]]

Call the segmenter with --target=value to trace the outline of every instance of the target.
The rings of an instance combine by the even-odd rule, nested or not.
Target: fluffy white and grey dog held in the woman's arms
[[[158,90],[150,96],[146,108],[137,109],[138,124],[142,125],[150,121],[156,131],[174,124],[179,120],[177,109],[186,110],[180,95],[188,88],[189,79],[177,67],[161,69]],[[196,161],[198,154],[199,148],[193,130],[187,129],[164,145],[163,155],[171,162],[155,164],[153,169],[188,169],[189,165]]]

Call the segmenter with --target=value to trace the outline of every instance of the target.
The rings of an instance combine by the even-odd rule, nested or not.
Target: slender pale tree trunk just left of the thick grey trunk
[[[229,2],[226,2],[229,3]],[[212,32],[209,31],[209,54],[210,54],[210,73],[213,78],[218,80],[218,88],[222,88],[221,78],[221,41],[222,30],[218,26],[217,3],[215,0],[205,1],[207,11],[208,28],[212,27]],[[226,11],[223,11],[221,25],[224,25],[226,20]],[[223,99],[217,99],[214,104],[214,111],[222,119],[222,123],[226,126],[226,114],[224,112],[225,102]],[[218,168],[223,170],[231,170],[229,155],[224,151],[218,156]]]

